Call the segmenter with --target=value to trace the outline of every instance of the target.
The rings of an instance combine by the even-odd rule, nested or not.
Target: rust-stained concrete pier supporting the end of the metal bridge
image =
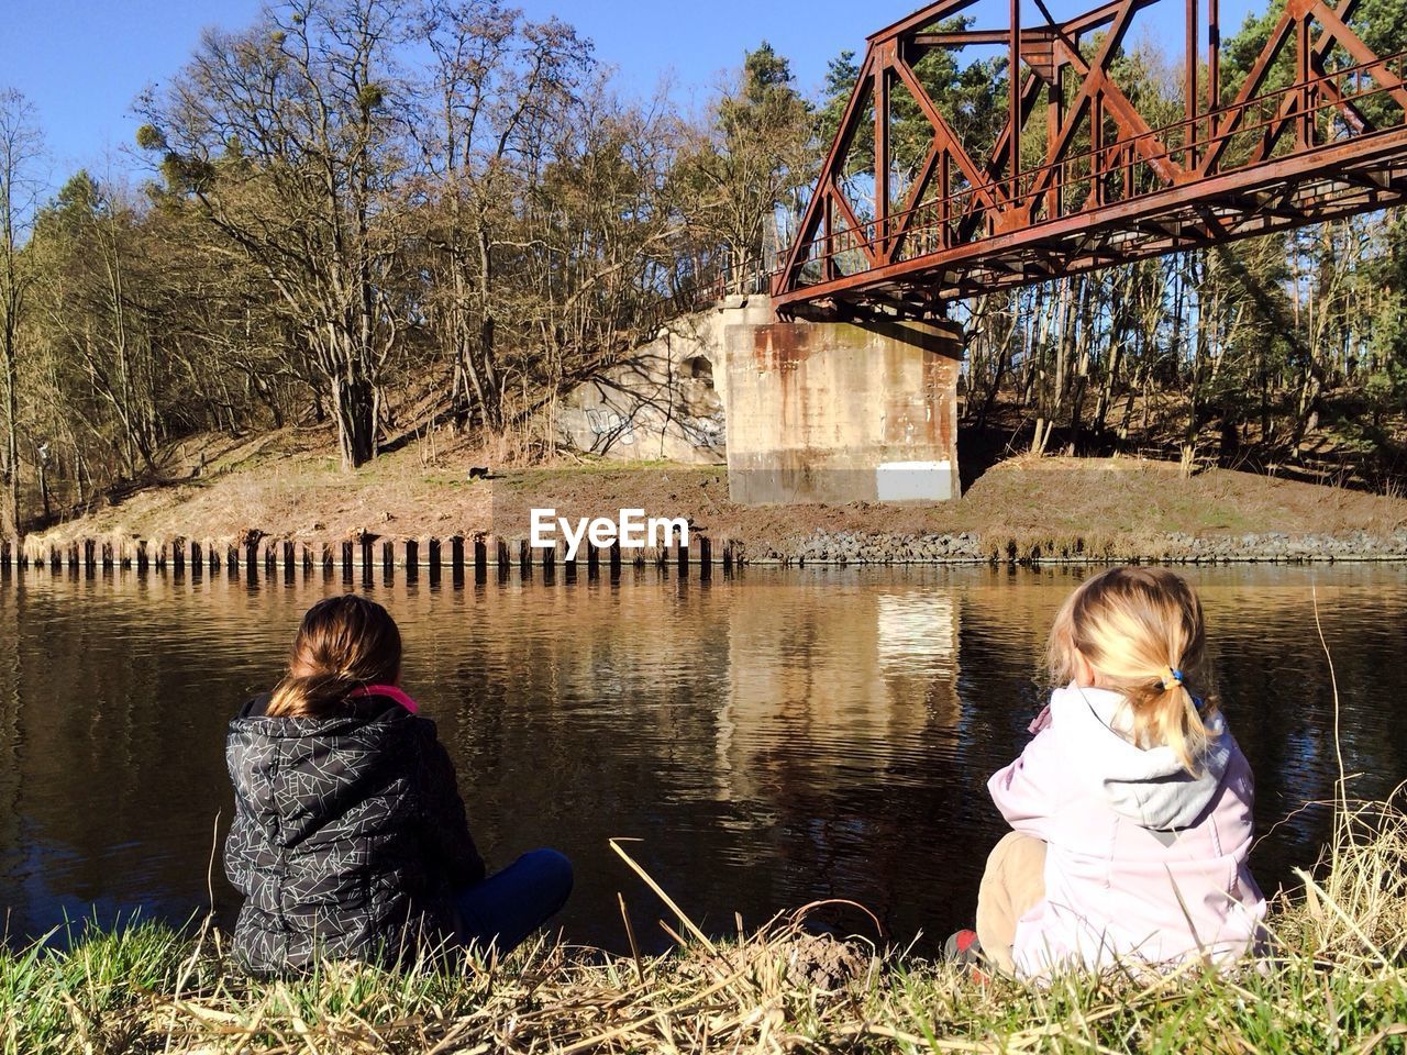
[[[958,497],[960,326],[781,322],[767,297],[734,301],[722,315],[733,501]]]

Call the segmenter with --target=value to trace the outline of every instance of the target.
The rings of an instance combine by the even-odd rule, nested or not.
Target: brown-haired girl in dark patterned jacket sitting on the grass
[[[553,850],[485,878],[454,768],[400,674],[387,610],[328,598],[303,618],[288,677],[229,726],[225,871],[245,895],[235,951],[256,973],[446,941],[508,952],[571,892]]]

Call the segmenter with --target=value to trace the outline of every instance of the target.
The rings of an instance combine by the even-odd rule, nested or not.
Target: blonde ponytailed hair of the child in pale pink
[[[1051,627],[1048,663],[1058,684],[1075,679],[1076,653],[1095,668],[1099,688],[1128,701],[1134,743],[1166,744],[1196,774],[1217,708],[1202,602],[1192,587],[1166,568],[1145,567],[1085,580]]]

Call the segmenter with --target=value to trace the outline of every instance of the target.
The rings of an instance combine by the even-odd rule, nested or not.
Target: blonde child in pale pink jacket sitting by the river
[[[1048,658],[1065,688],[988,782],[1013,830],[988,858],[976,941],[960,931],[950,955],[1023,978],[1234,959],[1265,899],[1247,864],[1251,767],[1210,693],[1196,594],[1162,568],[1093,575]]]

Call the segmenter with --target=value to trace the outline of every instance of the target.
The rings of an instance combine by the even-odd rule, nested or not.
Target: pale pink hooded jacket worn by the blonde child
[[[1255,942],[1265,897],[1251,876],[1251,767],[1221,717],[1199,776],[1168,747],[1142,750],[1123,696],[1071,685],[1036,738],[988,782],[1016,830],[1047,843],[1045,899],[1016,924],[1024,976],[1061,964],[1234,959]]]

